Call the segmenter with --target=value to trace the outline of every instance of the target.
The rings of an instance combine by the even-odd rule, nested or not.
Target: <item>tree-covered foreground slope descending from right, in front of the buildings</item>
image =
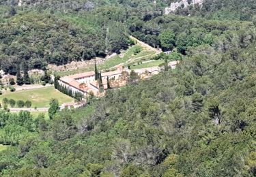
[[[255,176],[255,40],[227,34],[225,50],[190,48],[177,69],[53,120],[1,112],[1,174]]]

